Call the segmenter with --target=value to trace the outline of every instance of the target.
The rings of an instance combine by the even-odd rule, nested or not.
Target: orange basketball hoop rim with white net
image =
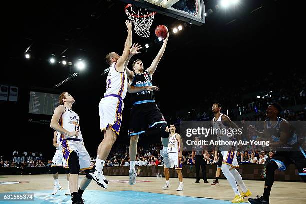
[[[126,5],[125,13],[127,17],[133,21],[136,34],[141,37],[150,37],[150,27],[153,23],[156,12],[152,12],[151,10],[147,10],[146,8],[141,8],[138,6],[135,6],[134,8],[137,10],[133,10],[132,4]]]

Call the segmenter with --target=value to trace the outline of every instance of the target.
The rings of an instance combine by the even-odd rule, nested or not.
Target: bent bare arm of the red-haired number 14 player
[[[54,129],[55,131],[58,131],[58,132],[60,132],[62,134],[65,134],[67,136],[77,136],[78,131],[69,132],[69,131],[65,130],[63,127],[61,127],[58,123],[61,115],[65,111],[66,111],[66,107],[64,105],[59,105],[58,107],[55,108],[54,114],[53,114],[52,119],[51,119],[50,127],[52,129]]]

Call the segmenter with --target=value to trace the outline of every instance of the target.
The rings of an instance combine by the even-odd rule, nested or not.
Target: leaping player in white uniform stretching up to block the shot
[[[122,56],[115,52],[106,55],[106,62],[109,64],[109,73],[106,79],[106,92],[99,103],[100,129],[104,134],[104,139],[97,149],[97,157],[95,168],[93,168],[89,176],[101,187],[107,188],[108,181],[103,175],[103,167],[107,159],[112,145],[117,139],[120,132],[122,111],[124,108],[123,99],[126,92],[139,92],[143,90],[157,90],[154,86],[130,87],[127,83],[125,71],[125,63],[130,54],[132,44],[132,24],[125,22],[128,35]]]

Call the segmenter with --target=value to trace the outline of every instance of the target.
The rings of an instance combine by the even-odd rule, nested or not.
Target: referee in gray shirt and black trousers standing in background
[[[198,137],[195,137],[195,141],[199,141]],[[199,176],[199,168],[201,166],[202,168],[202,173],[203,173],[203,179],[204,183],[208,183],[207,176],[206,176],[206,162],[204,161],[204,155],[203,155],[203,145],[193,145],[192,146],[192,162],[194,164],[194,156],[195,156],[195,174],[196,174],[196,181],[195,183],[199,183],[200,181],[200,176]],[[207,151],[205,150],[205,153]],[[208,158],[208,155],[206,155]]]

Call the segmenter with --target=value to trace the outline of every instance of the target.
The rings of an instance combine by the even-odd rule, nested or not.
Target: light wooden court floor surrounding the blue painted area
[[[80,175],[81,178],[84,175]],[[103,191],[142,191],[153,192],[170,195],[191,196],[191,197],[204,197],[216,200],[231,200],[234,197],[233,190],[230,188],[227,180],[220,180],[217,186],[211,186],[213,180],[208,180],[209,183],[195,183],[195,179],[184,179],[183,191],[176,191],[179,181],[177,178],[170,178],[171,187],[163,190],[165,178],[155,177],[137,177],[135,185],[128,184],[127,176],[106,176],[109,180],[108,189],[101,188],[94,181],[90,183],[87,189],[89,190],[103,190]],[[79,180],[79,181],[80,181]],[[50,190],[53,189],[52,175],[2,175],[0,176],[1,182],[13,182],[17,184],[0,185],[0,193],[13,192],[13,191],[31,191],[31,190]],[[63,186],[62,190],[67,189],[66,176],[59,175],[59,182]],[[79,182],[80,183],[80,182]],[[246,187],[252,192],[251,197],[263,194],[263,181],[245,181]],[[86,192],[85,192],[86,193]],[[247,202],[247,199],[245,199]],[[272,188],[270,203],[290,203],[290,204],[305,204],[306,203],[306,183],[302,182],[275,182]]]

